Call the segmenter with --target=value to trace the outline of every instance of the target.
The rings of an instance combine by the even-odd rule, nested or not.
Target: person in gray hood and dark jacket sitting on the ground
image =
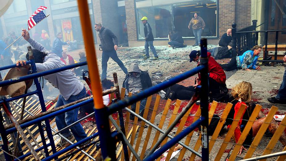
[[[125,88],[125,96],[128,96],[128,93],[131,92],[133,95],[143,90],[152,87],[152,82],[148,72],[142,71],[139,69],[137,63],[131,63],[129,68],[129,74],[126,75],[125,80],[123,81],[123,88]],[[144,98],[140,101],[139,115],[143,116],[147,98]],[[131,110],[135,112],[136,103],[131,105]],[[130,114],[130,119],[134,120],[134,115]]]

